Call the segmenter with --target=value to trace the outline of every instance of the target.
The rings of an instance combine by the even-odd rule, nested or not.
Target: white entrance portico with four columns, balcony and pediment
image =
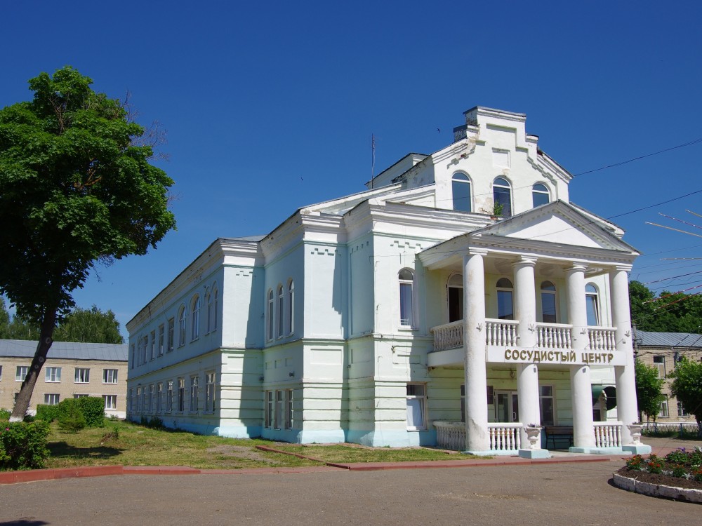
[[[566,203],[549,206],[551,223],[578,212]],[[432,327],[428,365],[463,362],[465,450],[495,454],[506,433],[514,452],[527,444],[527,427],[560,425],[572,426],[572,452],[640,451],[627,427],[637,419],[627,278],[637,252],[599,227],[593,232],[592,225],[578,234],[584,231],[597,246],[588,247],[593,243],[582,238],[570,245],[569,237],[577,236],[562,236],[557,245],[553,239],[537,241],[533,231],[531,238],[518,237],[525,225],[529,231],[529,215],[420,254],[430,271],[460,270],[463,276],[463,319]],[[510,430],[489,422],[489,406],[497,419],[498,404],[488,400],[487,368],[505,365],[516,382],[519,407],[519,422],[511,422]],[[596,421],[593,368],[600,374],[611,367],[616,421]],[[542,419],[539,375],[546,370],[569,373],[571,411],[560,422]]]

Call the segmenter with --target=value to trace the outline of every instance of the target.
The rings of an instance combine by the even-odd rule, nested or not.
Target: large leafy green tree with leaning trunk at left
[[[29,80],[30,102],[0,110],[0,292],[39,326],[13,409],[24,417],[55,326],[98,262],[143,255],[175,226],[173,184],[139,144],[124,104],[72,67]]]

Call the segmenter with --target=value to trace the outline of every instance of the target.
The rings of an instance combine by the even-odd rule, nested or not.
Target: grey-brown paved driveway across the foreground
[[[700,444],[649,443],[657,454]],[[465,469],[237,470],[239,476],[190,468],[143,475],[143,468],[127,468],[131,476],[0,485],[0,525],[700,524],[697,504],[612,487],[621,458],[519,460],[476,459]]]

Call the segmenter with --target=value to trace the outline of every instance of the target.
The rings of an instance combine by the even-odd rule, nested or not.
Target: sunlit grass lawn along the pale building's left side
[[[51,424],[48,439],[51,456],[47,468],[74,466],[190,466],[200,469],[319,466],[319,462],[289,454],[256,449],[266,445],[277,450],[303,454],[327,462],[399,462],[418,460],[459,460],[462,454],[448,454],[424,447],[362,447],[359,445],[293,445],[261,439],[202,436],[187,431],[151,429],[131,422],[105,420],[105,427],[65,433]]]

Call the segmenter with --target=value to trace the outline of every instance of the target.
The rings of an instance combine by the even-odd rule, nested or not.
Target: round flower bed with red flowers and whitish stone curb
[[[645,483],[702,490],[702,447],[679,447],[665,457],[637,454],[618,473]]]

